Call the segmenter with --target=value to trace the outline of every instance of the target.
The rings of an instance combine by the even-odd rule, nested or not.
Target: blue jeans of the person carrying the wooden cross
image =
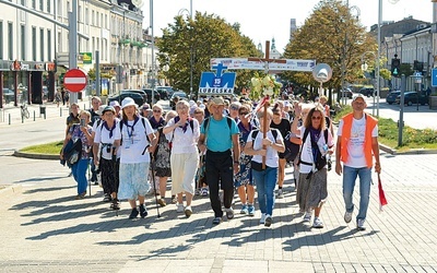
[[[277,182],[277,168],[265,166],[265,169],[258,171],[252,169],[252,177],[257,186],[258,203],[261,213],[273,215],[274,188]]]

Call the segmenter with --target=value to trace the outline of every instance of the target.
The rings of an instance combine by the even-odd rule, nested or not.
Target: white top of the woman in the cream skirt
[[[182,128],[177,127],[175,131],[167,133],[165,136],[168,141],[172,141],[172,153],[173,154],[191,154],[198,152],[198,140],[200,135],[200,127],[199,121],[197,119],[192,120],[192,130],[191,126],[187,124],[187,130],[184,132]],[[188,121],[188,120],[187,120]],[[175,119],[168,120],[168,123],[165,127],[172,127],[175,124]]]

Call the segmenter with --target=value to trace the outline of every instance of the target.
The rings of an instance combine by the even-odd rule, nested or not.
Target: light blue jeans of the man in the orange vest
[[[354,211],[353,194],[356,177],[359,177],[359,211],[356,219],[365,219],[370,199],[371,168],[343,167],[343,199],[346,212]]]

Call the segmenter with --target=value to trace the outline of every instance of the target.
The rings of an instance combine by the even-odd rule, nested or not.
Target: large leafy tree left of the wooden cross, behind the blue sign
[[[259,52],[248,37],[239,32],[239,24],[231,25],[214,14],[196,13],[193,20],[178,15],[175,22],[163,29],[156,43],[161,67],[168,64],[165,78],[173,86],[190,90],[190,60],[192,59],[193,92],[199,90],[200,76],[210,71],[211,58],[258,57]],[[237,86],[244,86],[251,79],[251,72],[237,71]]]

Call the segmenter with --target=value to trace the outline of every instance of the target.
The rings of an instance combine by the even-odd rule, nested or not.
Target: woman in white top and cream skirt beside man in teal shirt
[[[190,105],[186,100],[176,104],[177,117],[170,119],[163,132],[172,142],[172,193],[177,194],[177,212],[191,216],[191,201],[194,194],[194,177],[199,165],[197,141],[200,135],[199,122],[189,117]],[[187,206],[184,207],[182,194]]]

